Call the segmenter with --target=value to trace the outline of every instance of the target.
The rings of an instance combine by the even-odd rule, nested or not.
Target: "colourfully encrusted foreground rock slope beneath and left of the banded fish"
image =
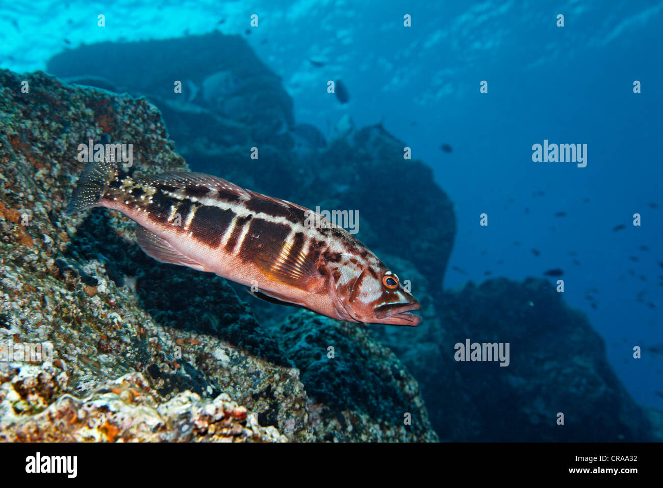
[[[341,410],[307,394],[328,378],[302,382],[294,351],[225,280],[145,256],[135,224],[117,212],[64,216],[82,169],[78,145],[103,133],[133,143],[136,175],[188,169],[147,100],[7,70],[0,90],[0,343],[14,351],[52,345],[52,365],[0,361],[1,438],[436,439],[416,381],[375,339],[363,339],[381,351],[371,361],[396,368],[400,380],[385,374],[362,384],[403,388],[410,404],[401,406],[420,419],[416,428],[385,409],[371,410],[379,429],[353,430],[365,408],[347,400]],[[333,345],[343,350],[355,338],[347,331]],[[345,378],[349,390],[357,381]],[[349,420],[318,420],[341,417]]]

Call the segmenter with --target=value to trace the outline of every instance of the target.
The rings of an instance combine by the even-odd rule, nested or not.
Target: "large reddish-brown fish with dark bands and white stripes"
[[[347,230],[304,206],[204,173],[127,175],[88,163],[66,207],[102,206],[134,220],[141,249],[212,272],[267,301],[349,322],[416,326],[421,308],[398,276]]]

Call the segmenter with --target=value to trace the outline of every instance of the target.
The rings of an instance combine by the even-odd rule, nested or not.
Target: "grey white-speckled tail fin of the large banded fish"
[[[121,169],[115,161],[92,161],[83,168],[76,189],[72,193],[66,215],[71,215],[86,208],[99,206],[99,200],[108,189],[109,183],[121,177]]]

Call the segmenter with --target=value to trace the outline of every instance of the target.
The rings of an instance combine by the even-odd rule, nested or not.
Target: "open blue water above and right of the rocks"
[[[214,29],[245,35],[282,77],[298,122],[328,133],[346,113],[357,126],[383,121],[434,168],[457,214],[447,287],[481,282],[486,271],[520,280],[561,268],[566,301],[603,336],[629,392],[663,409],[663,357],[644,351],[633,359],[634,346],[663,343],[662,1],[161,5],[5,3],[0,66],[44,69],[50,56],[81,43]],[[252,14],[258,27],[249,25]],[[405,14],[412,27],[403,26]],[[312,68],[310,58],[325,66]],[[336,78],[349,104],[330,103],[326,81]],[[544,139],[587,144],[587,166],[534,163],[532,145]],[[479,226],[482,213],[488,226]],[[613,232],[618,224],[625,228]]]

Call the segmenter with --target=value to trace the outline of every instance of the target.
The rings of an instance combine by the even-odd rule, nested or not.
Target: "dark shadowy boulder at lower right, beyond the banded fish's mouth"
[[[418,378],[440,438],[491,442],[661,440],[661,412],[638,406],[586,315],[546,280],[494,278],[447,290],[436,341],[398,356]],[[455,361],[454,346],[509,343],[509,366]],[[434,371],[434,374],[431,374]],[[441,391],[449,394],[440,394]],[[564,424],[558,424],[558,414]],[[450,422],[453,419],[453,422]],[[658,419],[658,420],[656,420]]]

